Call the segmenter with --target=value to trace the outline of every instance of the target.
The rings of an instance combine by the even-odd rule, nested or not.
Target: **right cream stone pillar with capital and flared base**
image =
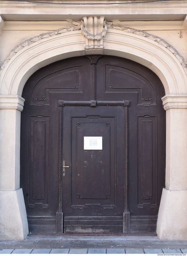
[[[166,180],[159,208],[161,239],[187,239],[187,95],[165,95]]]

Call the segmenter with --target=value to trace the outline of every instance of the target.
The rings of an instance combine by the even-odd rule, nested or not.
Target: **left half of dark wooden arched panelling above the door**
[[[50,105],[52,94],[59,94],[66,100],[74,97],[77,100],[88,100],[91,90],[90,75],[90,61],[85,57],[58,61],[41,68],[26,84],[26,93],[31,93],[30,104]]]

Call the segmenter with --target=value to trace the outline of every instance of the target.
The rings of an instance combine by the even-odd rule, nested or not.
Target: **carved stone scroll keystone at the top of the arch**
[[[81,30],[86,38],[86,50],[103,49],[103,37],[107,31],[104,17],[83,17]]]

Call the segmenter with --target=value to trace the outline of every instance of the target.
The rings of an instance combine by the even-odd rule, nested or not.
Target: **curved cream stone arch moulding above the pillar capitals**
[[[21,96],[24,84],[39,68],[64,58],[98,53],[143,64],[159,76],[166,94],[187,94],[187,63],[161,38],[107,22],[103,50],[93,52],[85,49],[81,22],[72,24],[75,26],[41,34],[16,46],[1,66],[0,94]]]

